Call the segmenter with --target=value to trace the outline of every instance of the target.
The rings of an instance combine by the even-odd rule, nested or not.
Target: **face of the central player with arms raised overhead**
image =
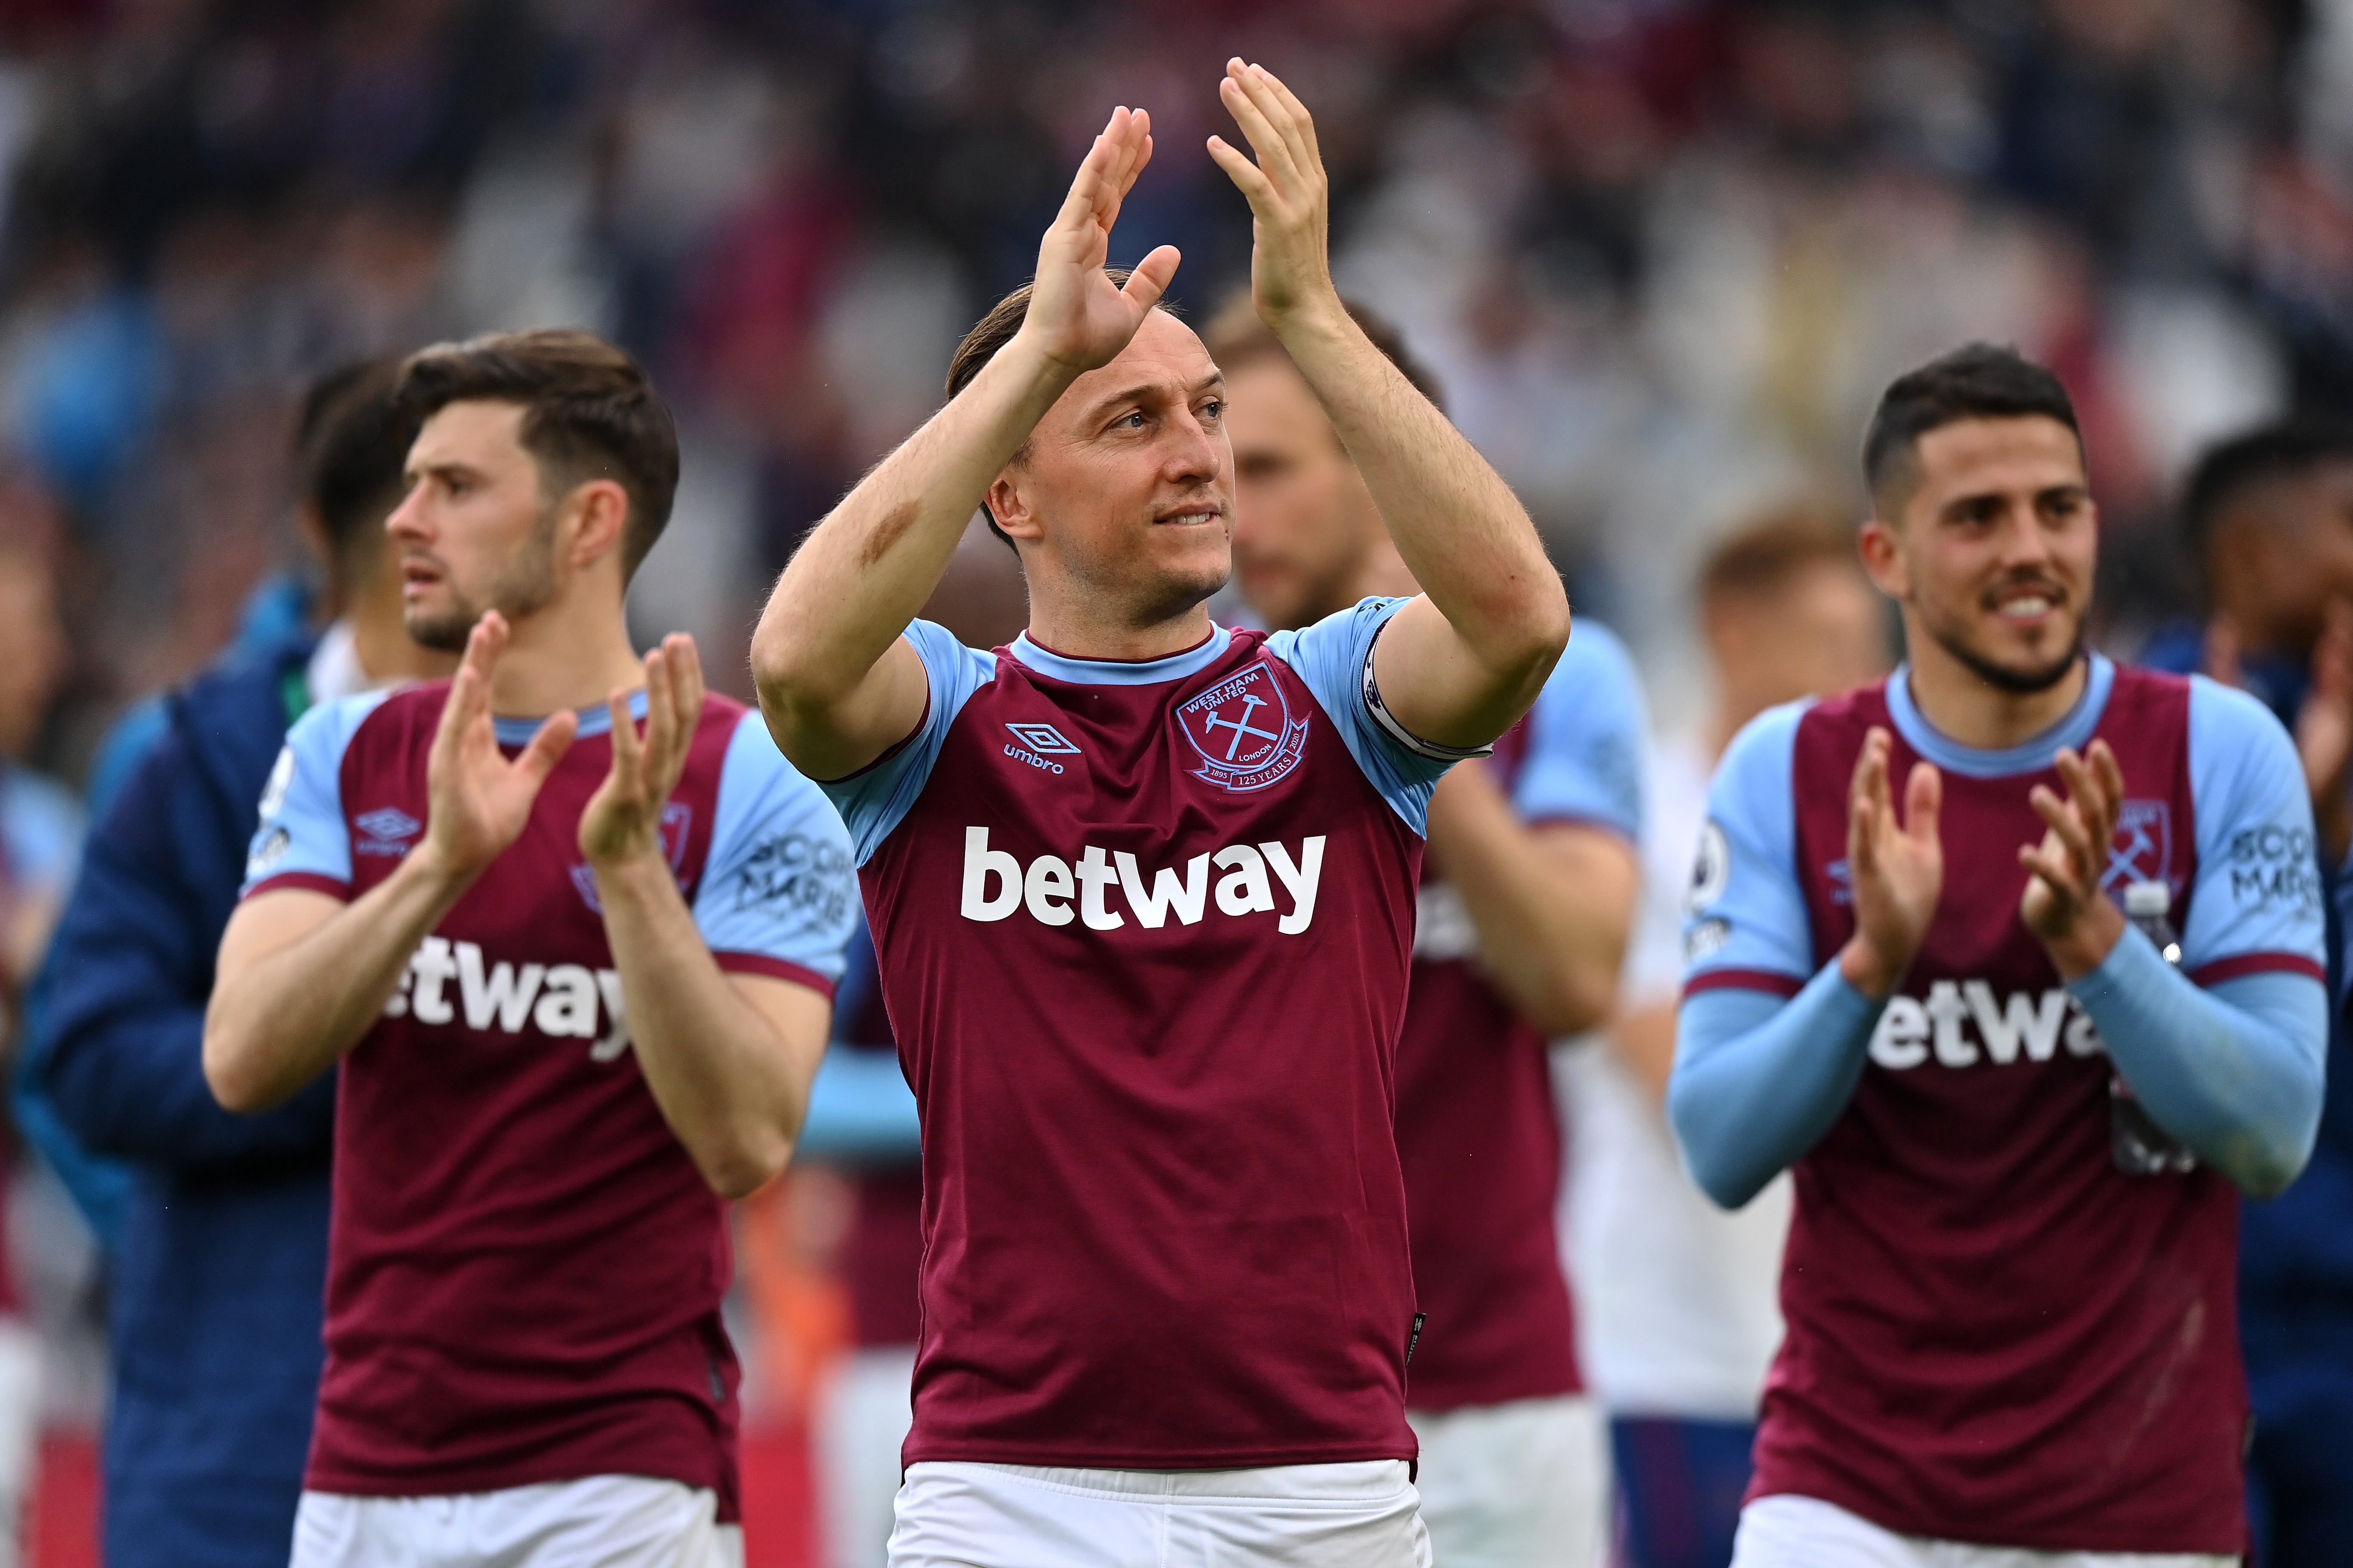
[[[1172,621],[1233,574],[1226,381],[1193,329],[1153,310],[1111,364],[1047,409],[988,491],[1038,592],[1132,625]]]

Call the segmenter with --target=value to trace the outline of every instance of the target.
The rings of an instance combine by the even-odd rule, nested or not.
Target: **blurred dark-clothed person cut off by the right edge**
[[[2341,910],[2353,844],[2353,428],[2297,418],[2205,454],[2181,501],[2209,618],[2144,663],[2205,668],[2297,736],[2315,870]],[[2344,997],[2344,931],[2329,931]],[[2353,1563],[2353,1056],[2329,1020],[2313,1164],[2240,1215],[2240,1345],[2254,1396],[2247,1502],[2261,1568]]]

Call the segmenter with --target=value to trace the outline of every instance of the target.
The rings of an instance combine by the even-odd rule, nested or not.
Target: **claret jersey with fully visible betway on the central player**
[[[1412,1458],[1395,1039],[1431,788],[1395,599],[1148,663],[915,623],[929,710],[826,785],[922,1112],[906,1460]]]

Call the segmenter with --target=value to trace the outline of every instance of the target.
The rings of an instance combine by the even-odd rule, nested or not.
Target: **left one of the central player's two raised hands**
[[[1129,275],[1127,287],[1104,275],[1111,226],[1136,174],[1153,160],[1153,118],[1115,108],[1087,148],[1052,228],[1038,244],[1038,280],[1021,334],[1073,374],[1108,364],[1176,275],[1176,247],[1162,244]]]

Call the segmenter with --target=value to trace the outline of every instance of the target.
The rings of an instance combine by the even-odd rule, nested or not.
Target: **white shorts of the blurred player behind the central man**
[[[1421,1523],[1445,1568],[1595,1568],[1609,1526],[1609,1420],[1584,1394],[1407,1410]]]

